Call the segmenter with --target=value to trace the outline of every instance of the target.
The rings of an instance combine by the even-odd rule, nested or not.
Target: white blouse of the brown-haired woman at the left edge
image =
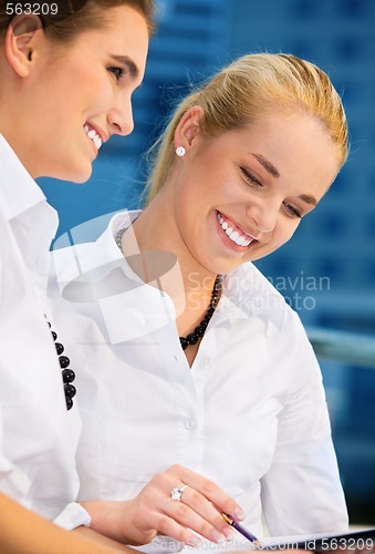
[[[0,161],[0,492],[72,529],[90,517],[74,502],[80,416],[44,318],[58,216],[1,135]]]

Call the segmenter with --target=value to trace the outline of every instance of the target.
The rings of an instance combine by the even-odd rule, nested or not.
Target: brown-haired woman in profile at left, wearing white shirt
[[[76,503],[74,372],[61,371],[67,352],[44,316],[58,216],[33,177],[86,181],[102,143],[132,132],[153,10],[153,0],[0,2],[2,553],[126,551],[46,521],[73,530],[90,514]]]

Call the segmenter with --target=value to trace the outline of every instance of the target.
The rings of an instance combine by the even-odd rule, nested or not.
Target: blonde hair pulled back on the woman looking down
[[[200,129],[209,137],[240,129],[275,107],[278,111],[300,107],[322,122],[337,145],[341,165],[347,157],[345,112],[324,71],[291,54],[248,54],[210,78],[177,106],[150,148],[154,162],[146,202],[150,202],[165,183],[175,160],[175,130],[183,115],[195,105],[204,109]]]

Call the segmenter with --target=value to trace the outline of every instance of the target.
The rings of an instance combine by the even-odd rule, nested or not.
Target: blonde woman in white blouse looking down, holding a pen
[[[127,501],[148,551],[197,544],[192,532],[215,550],[233,538],[219,512],[258,537],[263,521],[273,535],[346,530],[316,359],[252,265],[291,238],[346,155],[323,71],[243,57],[177,106],[145,209],[55,253],[55,317],[80,367],[80,500],[92,513],[97,493]]]

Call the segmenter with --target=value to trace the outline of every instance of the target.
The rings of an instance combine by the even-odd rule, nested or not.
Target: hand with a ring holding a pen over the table
[[[173,500],[171,490],[184,485],[187,488],[180,502]],[[131,501],[85,502],[82,505],[92,516],[92,529],[133,545],[149,543],[157,534],[191,546],[199,545],[197,534],[215,543],[232,540],[236,532],[220,512],[236,520],[244,515],[212,481],[181,465],[171,465],[156,474]]]

